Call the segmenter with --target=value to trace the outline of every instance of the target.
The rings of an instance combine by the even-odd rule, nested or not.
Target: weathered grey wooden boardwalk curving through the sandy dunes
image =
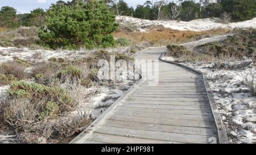
[[[136,60],[158,60],[166,48]],[[152,81],[152,80],[151,80]],[[71,143],[218,143],[202,74],[159,61],[159,83],[141,79]]]

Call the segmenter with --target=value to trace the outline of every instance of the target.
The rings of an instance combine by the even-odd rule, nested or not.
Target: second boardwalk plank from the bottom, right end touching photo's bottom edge
[[[204,135],[187,135],[177,133],[166,133],[156,131],[141,131],[138,129],[126,129],[108,127],[102,125],[96,129],[95,133],[110,134],[115,136],[125,136],[141,139],[152,139],[152,140],[165,140],[165,141],[176,141],[178,143],[208,143],[208,136]]]

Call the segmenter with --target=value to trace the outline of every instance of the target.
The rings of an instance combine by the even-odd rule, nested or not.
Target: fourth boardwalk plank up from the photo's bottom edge
[[[201,121],[191,121],[191,120],[176,120],[176,119],[165,119],[165,118],[137,118],[135,116],[122,116],[122,115],[118,115],[118,116],[112,115],[112,116],[109,116],[108,119],[124,121],[124,122],[174,125],[174,126],[180,126],[180,127],[216,128],[216,125],[213,122],[201,122]]]

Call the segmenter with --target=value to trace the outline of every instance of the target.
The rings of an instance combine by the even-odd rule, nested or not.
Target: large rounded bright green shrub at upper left
[[[112,32],[117,30],[115,16],[105,1],[74,1],[71,5],[53,5],[47,11],[46,27],[40,38],[51,48],[111,47]]]

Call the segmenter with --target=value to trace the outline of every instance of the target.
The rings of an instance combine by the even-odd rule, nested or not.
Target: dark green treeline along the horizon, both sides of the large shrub
[[[57,1],[54,5],[72,5],[71,2]],[[91,1],[85,0],[84,2]],[[97,1],[97,0],[95,0]],[[115,15],[133,16],[150,20],[182,20],[189,21],[203,18],[221,18],[228,15],[233,22],[249,20],[256,16],[255,0],[179,0],[176,3],[168,0],[151,0],[138,5],[136,9],[129,7],[124,0],[104,0]],[[0,27],[42,26],[47,11],[35,9],[27,14],[16,14],[13,7],[5,6],[0,10]]]

